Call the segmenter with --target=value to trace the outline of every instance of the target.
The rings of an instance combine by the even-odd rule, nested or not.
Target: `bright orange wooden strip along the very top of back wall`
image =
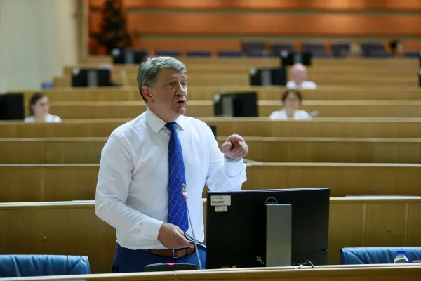
[[[89,0],[91,8],[100,8],[104,0]],[[421,3],[413,0],[260,0],[260,1],[203,1],[190,0],[174,2],[171,0],[123,0],[125,8],[160,9],[243,9],[243,10],[323,10],[323,11],[420,11]]]

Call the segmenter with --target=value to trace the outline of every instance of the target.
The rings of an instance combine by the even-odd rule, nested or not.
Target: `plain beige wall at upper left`
[[[39,89],[78,59],[75,0],[0,0],[0,91]]]

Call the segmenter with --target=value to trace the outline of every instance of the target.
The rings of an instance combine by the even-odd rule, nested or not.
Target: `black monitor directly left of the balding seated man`
[[[250,86],[286,86],[286,67],[250,69]]]

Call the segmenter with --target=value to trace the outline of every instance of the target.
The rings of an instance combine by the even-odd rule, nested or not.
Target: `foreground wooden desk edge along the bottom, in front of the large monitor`
[[[271,280],[271,281],[347,281],[347,280],[385,280],[408,281],[421,276],[421,266],[409,265],[361,265],[361,266],[315,266],[314,269],[305,267],[300,270],[294,267],[274,268],[232,268],[215,270],[187,270],[161,273],[118,273],[118,274],[90,274],[64,275],[44,277],[4,278],[4,281],[64,281],[64,280],[141,280],[141,281],[178,281],[178,280]]]

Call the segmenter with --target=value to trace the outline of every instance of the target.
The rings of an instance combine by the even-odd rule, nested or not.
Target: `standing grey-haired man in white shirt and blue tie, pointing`
[[[187,70],[175,58],[142,63],[138,87],[147,111],[119,126],[101,153],[96,214],[116,228],[114,272],[141,272],[152,263],[196,263],[185,233],[203,242],[204,185],[241,190],[248,146],[239,135],[222,145],[210,127],[185,117]],[[181,185],[187,185],[187,217]],[[205,265],[205,251],[199,256]]]

